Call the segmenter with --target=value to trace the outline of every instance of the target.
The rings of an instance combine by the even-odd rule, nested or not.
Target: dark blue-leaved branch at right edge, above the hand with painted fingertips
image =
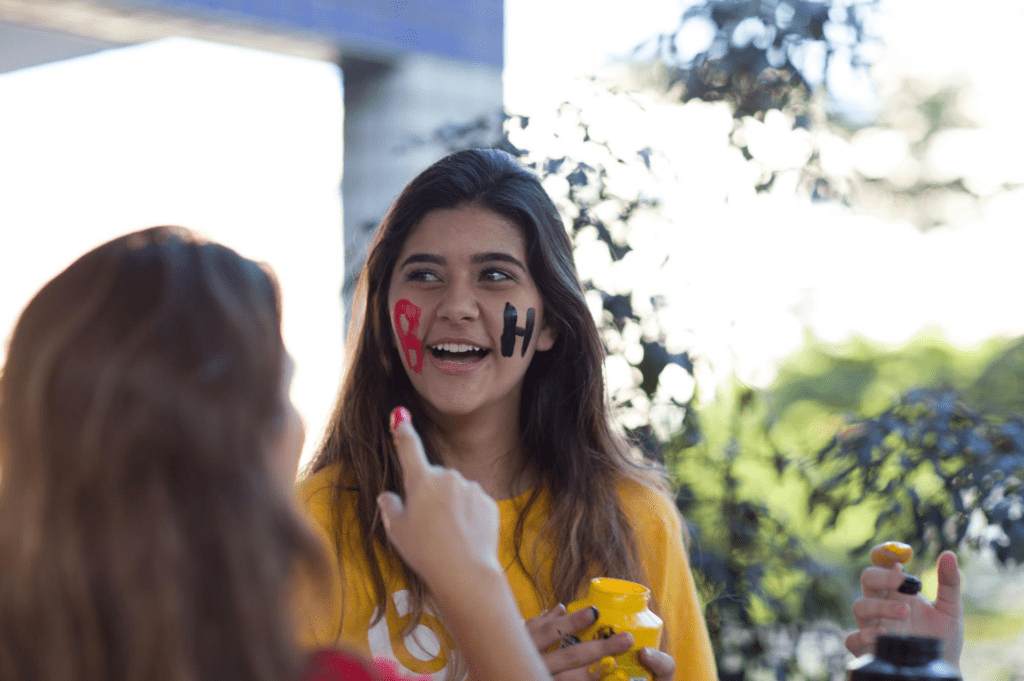
[[[855,555],[888,538],[928,559],[967,544],[1024,564],[1022,419],[983,415],[951,389],[913,389],[841,431],[816,463],[808,511],[823,511],[826,528],[848,509],[874,507]]]

